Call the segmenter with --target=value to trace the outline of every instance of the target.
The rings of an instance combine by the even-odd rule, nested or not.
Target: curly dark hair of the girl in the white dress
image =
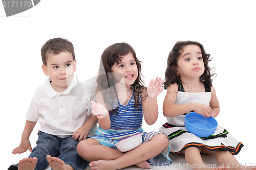
[[[167,59],[167,68],[165,70],[165,79],[163,83],[164,89],[167,89],[170,84],[181,83],[180,77],[177,76],[177,61],[182,53],[183,47],[190,44],[198,45],[201,48],[205,70],[203,75],[200,76],[200,81],[204,82],[208,87],[212,86],[211,76],[216,74],[212,74],[212,68],[208,66],[208,62],[212,60],[212,58],[209,58],[210,54],[206,54],[203,45],[197,41],[178,41],[174,45],[172,51],[170,51]]]

